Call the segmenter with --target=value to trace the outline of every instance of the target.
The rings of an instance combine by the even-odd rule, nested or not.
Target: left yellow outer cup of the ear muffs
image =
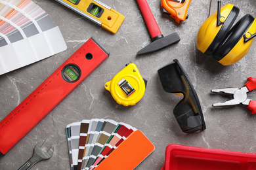
[[[230,11],[233,9],[234,5],[227,4],[221,8],[221,16],[224,18],[228,17]],[[222,18],[223,19],[223,18]],[[213,39],[215,39],[217,33],[221,29],[222,25],[217,26],[217,11],[215,11],[203,24],[201,25],[198,36],[196,38],[196,46],[201,52],[205,52],[210,46]]]

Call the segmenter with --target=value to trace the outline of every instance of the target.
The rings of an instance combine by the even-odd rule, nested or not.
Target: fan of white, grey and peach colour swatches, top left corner
[[[0,75],[66,50],[49,15],[31,0],[0,0]]]

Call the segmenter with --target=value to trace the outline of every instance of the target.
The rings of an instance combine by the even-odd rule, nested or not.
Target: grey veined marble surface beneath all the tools
[[[245,58],[225,67],[197,50],[196,35],[200,25],[207,18],[209,0],[193,0],[188,9],[190,16],[186,24],[182,25],[161,14],[160,0],[148,0],[163,35],[177,32],[181,41],[160,52],[140,57],[136,56],[137,52],[151,41],[137,1],[102,1],[125,16],[116,34],[93,24],[56,1],[33,1],[60,27],[68,49],[51,58],[0,76],[0,120],[90,37],[95,37],[110,52],[110,57],[6,156],[0,158],[0,169],[18,169],[32,156],[35,144],[42,140],[47,141],[46,147],[54,146],[53,157],[37,163],[32,169],[70,169],[65,127],[72,122],[92,118],[125,122],[140,129],[150,139],[155,145],[155,150],[136,169],[161,169],[165,161],[165,147],[172,143],[256,152],[256,116],[244,105],[213,108],[213,103],[226,101],[228,97],[210,93],[211,89],[215,88],[240,88],[244,86],[247,77],[256,77],[256,43],[253,42]],[[238,19],[247,13],[256,16],[255,0],[223,2],[226,3],[233,3],[240,8]],[[213,0],[211,13],[217,10],[216,7],[217,0]],[[207,127],[202,133],[182,133],[173,115],[173,108],[180,98],[165,93],[161,88],[157,71],[175,58],[181,62],[198,93]],[[148,86],[137,105],[123,107],[104,89],[104,84],[129,61],[137,65],[143,78],[148,80]],[[256,92],[250,92],[249,98],[256,99]]]

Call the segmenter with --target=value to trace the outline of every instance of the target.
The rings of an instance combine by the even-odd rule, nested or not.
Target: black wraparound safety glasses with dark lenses
[[[184,133],[204,130],[205,122],[198,95],[178,59],[173,61],[158,70],[158,75],[165,92],[184,96],[173,109],[175,118]]]

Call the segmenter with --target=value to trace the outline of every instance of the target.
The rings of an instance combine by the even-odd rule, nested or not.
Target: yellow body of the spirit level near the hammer
[[[77,5],[74,3],[71,3],[68,0],[62,0],[68,3],[69,5],[72,5],[76,9],[80,10],[81,12],[84,12],[85,14],[88,14],[89,16],[95,18],[95,20],[98,20],[99,22],[102,22],[101,26],[104,29],[107,29],[108,31],[111,31],[112,33],[116,33],[121,24],[123,23],[123,20],[125,19],[125,16],[120,14],[114,9],[107,9],[106,7],[100,5],[99,3],[96,3],[96,1],[93,0],[81,0]],[[104,10],[102,13],[102,16],[100,18],[94,16],[90,12],[87,12],[87,9],[89,5],[93,3]]]

